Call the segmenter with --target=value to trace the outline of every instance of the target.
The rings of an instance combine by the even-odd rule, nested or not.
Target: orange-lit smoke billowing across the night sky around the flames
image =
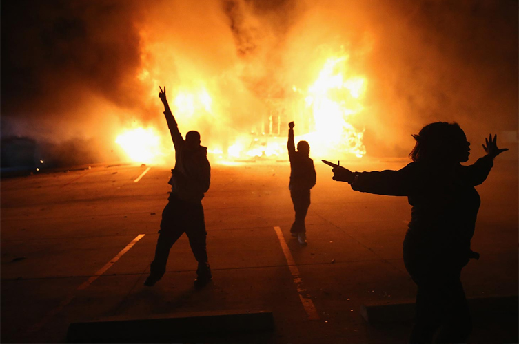
[[[167,85],[181,131],[225,147],[347,54],[367,79],[352,124],[368,155],[405,156],[438,120],[478,143],[518,129],[517,43],[516,1],[3,1],[1,135],[116,160],[123,127],[167,139]]]

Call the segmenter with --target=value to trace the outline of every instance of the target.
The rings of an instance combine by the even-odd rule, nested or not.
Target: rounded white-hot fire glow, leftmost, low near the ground
[[[152,128],[136,128],[124,131],[117,136],[115,142],[134,162],[157,164],[164,156],[161,138]]]

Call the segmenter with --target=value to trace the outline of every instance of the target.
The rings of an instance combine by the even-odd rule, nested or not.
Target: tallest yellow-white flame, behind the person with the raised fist
[[[299,103],[304,104],[305,111],[303,118],[300,118],[302,122],[298,120],[296,123],[302,124],[299,127],[303,128],[305,123],[309,124],[312,129],[308,133],[296,136],[295,140],[309,142],[314,155],[346,153],[362,158],[366,153],[362,142],[364,131],[356,129],[349,122],[349,118],[360,114],[364,109],[361,101],[366,91],[367,80],[362,76],[347,75],[348,58],[347,55],[328,58],[318,78],[307,87],[306,92],[293,85],[292,91],[298,97],[295,100],[283,100],[283,106],[288,108],[301,109]],[[301,114],[292,116],[301,117]],[[287,118],[286,122],[290,121],[291,119]],[[286,128],[286,123],[283,123],[283,128]],[[274,136],[265,136],[262,132],[260,139],[254,138],[254,141],[248,144],[248,149],[246,142],[241,138],[229,147],[228,156],[286,158],[286,136],[283,135],[285,132]]]

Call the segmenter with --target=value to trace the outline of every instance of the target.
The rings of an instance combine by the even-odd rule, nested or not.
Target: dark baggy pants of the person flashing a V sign
[[[191,250],[199,262],[196,273],[199,277],[211,274],[207,261],[205,239],[205,219],[202,202],[190,203],[170,195],[169,202],[162,212],[161,230],[157,239],[155,259],[150,266],[155,279],[161,279],[166,271],[167,257],[176,240],[185,233],[190,241]]]

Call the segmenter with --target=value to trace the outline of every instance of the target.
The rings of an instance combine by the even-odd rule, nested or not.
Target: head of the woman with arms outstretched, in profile
[[[418,135],[413,135],[416,144],[409,153],[415,161],[466,162],[469,160],[470,142],[458,123],[436,122],[426,125]]]

